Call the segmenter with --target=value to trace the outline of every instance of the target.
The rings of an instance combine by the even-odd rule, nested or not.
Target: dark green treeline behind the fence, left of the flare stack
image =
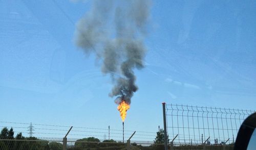
[[[2,140],[1,140],[2,139]],[[122,142],[116,142],[115,140],[104,140],[100,142],[99,139],[94,137],[79,139],[74,145],[68,145],[67,149],[122,149],[125,145]],[[0,149],[1,150],[61,150],[62,144],[58,142],[49,142],[47,140],[41,140],[36,137],[24,137],[22,133],[18,133],[14,136],[13,128],[3,128],[0,134]]]

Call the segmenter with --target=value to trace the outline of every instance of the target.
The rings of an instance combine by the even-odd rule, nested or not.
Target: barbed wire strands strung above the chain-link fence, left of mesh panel
[[[32,124],[33,128],[30,128]],[[63,138],[69,131],[71,126],[63,126],[62,124],[41,124],[29,122],[9,122],[0,120],[0,128],[8,128],[16,133],[22,133],[23,136],[34,137],[60,137]],[[108,126],[106,126],[108,127]],[[129,139],[135,130],[124,130],[124,139]],[[153,141],[156,137],[157,128],[155,131],[138,131],[133,136],[133,140]],[[31,134],[32,133],[32,134]],[[95,137],[98,139],[119,139],[123,138],[122,129],[110,128],[94,128],[94,127],[78,127],[74,126],[69,138],[84,138]]]

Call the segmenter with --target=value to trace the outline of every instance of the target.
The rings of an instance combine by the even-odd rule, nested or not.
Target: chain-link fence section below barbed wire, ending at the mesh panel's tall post
[[[127,141],[128,142],[128,141]],[[163,144],[154,144],[146,141],[129,141],[129,143],[115,140],[83,141],[82,139],[67,139],[67,144],[63,146],[64,141],[61,138],[35,138],[17,140],[17,139],[0,139],[1,150],[32,150],[32,149],[162,149]]]

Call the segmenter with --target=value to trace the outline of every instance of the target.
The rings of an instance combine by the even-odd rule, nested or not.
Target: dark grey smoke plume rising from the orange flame
[[[75,42],[86,54],[95,53],[102,72],[110,74],[116,103],[131,104],[138,90],[134,69],[144,67],[144,37],[150,13],[149,0],[93,1],[90,11],[77,23]]]

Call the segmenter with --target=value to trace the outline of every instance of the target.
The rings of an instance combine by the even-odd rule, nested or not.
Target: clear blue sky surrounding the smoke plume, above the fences
[[[74,23],[90,6],[0,2],[0,120],[122,128],[110,77],[74,44]],[[255,6],[153,1],[126,130],[158,131],[162,102],[255,110]]]

